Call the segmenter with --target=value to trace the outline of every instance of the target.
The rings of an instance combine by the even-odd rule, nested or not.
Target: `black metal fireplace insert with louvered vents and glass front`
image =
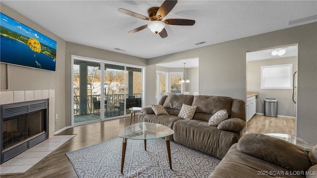
[[[48,99],[1,105],[1,164],[48,138]]]

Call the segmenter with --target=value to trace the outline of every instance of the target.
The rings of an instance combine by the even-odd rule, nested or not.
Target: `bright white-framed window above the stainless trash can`
[[[261,66],[261,89],[292,89],[293,64]]]

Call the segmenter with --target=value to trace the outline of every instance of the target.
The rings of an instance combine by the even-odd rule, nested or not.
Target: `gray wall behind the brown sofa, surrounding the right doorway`
[[[198,56],[199,94],[246,99],[246,52],[298,44],[297,136],[317,144],[316,32],[315,22],[151,58],[148,65]]]

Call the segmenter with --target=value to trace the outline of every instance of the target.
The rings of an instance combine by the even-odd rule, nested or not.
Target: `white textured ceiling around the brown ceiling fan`
[[[65,41],[101,49],[153,58],[243,37],[317,21],[298,20],[317,15],[317,1],[207,1],[179,0],[164,18],[194,19],[194,26],[167,25],[167,38],[144,29],[127,32],[148,23],[118,12],[125,8],[147,16],[147,9],[163,0],[1,0],[1,3],[48,29]],[[195,45],[206,41],[202,45]],[[124,49],[125,51],[115,48]]]

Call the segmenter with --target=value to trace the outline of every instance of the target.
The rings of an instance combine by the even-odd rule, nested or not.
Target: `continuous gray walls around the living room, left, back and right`
[[[155,103],[157,63],[199,57],[199,93],[246,98],[246,52],[271,46],[298,44],[297,136],[317,144],[317,23],[292,27],[248,38],[233,40],[152,59],[142,59],[93,47],[66,43],[4,4],[2,13],[47,35],[57,42],[56,72],[25,67],[9,67],[11,90],[55,89],[56,131],[70,126],[70,55],[118,61],[146,67],[146,104]],[[3,64],[0,64],[1,69]],[[6,82],[2,81],[1,83]],[[66,113],[67,111],[67,113]]]

